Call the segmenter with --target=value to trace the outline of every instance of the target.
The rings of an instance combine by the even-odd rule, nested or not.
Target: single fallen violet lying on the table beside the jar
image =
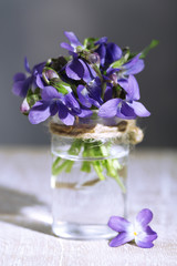
[[[111,247],[117,247],[125,243],[135,241],[138,247],[150,248],[154,246],[153,241],[157,238],[148,223],[153,219],[153,213],[148,208],[142,209],[134,223],[118,216],[112,216],[108,226],[119,234],[110,242]]]

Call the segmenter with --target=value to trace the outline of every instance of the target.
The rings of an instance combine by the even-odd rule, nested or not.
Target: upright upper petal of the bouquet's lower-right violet
[[[139,100],[139,86],[134,75],[129,75],[127,80],[118,80],[118,84],[127,92],[127,101]]]

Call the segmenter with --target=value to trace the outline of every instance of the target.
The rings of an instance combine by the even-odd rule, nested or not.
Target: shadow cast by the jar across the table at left
[[[37,221],[21,213],[21,209],[28,206],[45,207],[46,203],[38,200],[34,195],[0,186],[0,221],[53,235],[51,224],[44,221]],[[38,209],[35,207],[37,216]]]

